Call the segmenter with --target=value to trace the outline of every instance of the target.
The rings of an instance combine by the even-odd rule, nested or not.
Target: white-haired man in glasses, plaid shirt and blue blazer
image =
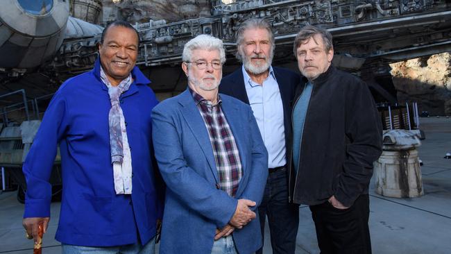
[[[223,43],[185,44],[189,88],[153,109],[155,157],[167,184],[160,253],[253,253],[268,154],[249,105],[218,94]]]

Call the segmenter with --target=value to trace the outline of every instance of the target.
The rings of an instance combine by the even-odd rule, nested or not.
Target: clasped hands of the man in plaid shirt
[[[232,234],[235,228],[243,228],[247,223],[255,219],[256,214],[250,207],[257,205],[254,201],[250,201],[248,199],[239,199],[237,209],[235,210],[235,214],[233,214],[232,219],[230,219],[229,223],[221,228],[216,228],[216,234],[214,235],[214,240],[221,237],[227,237]]]

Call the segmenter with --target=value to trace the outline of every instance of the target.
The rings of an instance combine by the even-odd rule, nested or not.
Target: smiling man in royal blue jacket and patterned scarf
[[[24,227],[37,241],[50,219],[49,175],[60,146],[63,253],[153,253],[164,189],[152,159],[158,101],[135,62],[139,36],[109,24],[94,69],[61,85],[24,162]]]

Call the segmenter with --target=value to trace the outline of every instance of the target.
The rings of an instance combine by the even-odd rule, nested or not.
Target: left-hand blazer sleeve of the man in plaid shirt
[[[214,221],[217,228],[223,228],[235,213],[238,201],[189,167],[171,113],[162,109],[153,109],[152,135],[155,158],[167,192],[173,192],[187,207]]]

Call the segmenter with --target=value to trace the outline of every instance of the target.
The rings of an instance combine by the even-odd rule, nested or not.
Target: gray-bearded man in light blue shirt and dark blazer
[[[268,215],[273,253],[294,253],[298,232],[298,205],[289,203],[287,155],[291,148],[291,102],[299,75],[271,67],[274,35],[264,19],[248,19],[237,31],[237,58],[243,66],[224,77],[219,92],[250,104],[269,154],[259,219],[264,236]],[[262,248],[257,251],[262,253]]]

